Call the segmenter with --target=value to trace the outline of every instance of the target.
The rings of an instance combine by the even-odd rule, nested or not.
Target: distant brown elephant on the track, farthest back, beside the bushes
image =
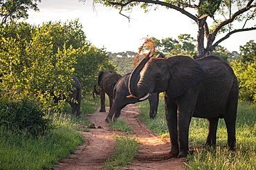
[[[105,108],[105,93],[109,96],[109,107],[113,105],[113,87],[122,76],[112,71],[101,71],[98,74],[98,85],[100,92],[97,92],[94,86],[94,92],[100,94],[100,112],[106,112]]]

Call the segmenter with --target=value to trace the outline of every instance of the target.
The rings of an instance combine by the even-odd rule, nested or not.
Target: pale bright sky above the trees
[[[156,39],[172,37],[178,39],[180,34],[190,34],[196,39],[197,25],[176,10],[159,7],[145,13],[143,9],[134,8],[128,13],[130,21],[113,8],[104,7],[93,0],[86,3],[79,0],[42,0],[38,3],[39,12],[30,10],[26,22],[42,25],[46,21],[71,21],[79,19],[87,40],[107,52],[138,52],[143,38],[154,36]],[[217,36],[217,40],[222,36]],[[232,34],[219,45],[230,52],[239,52],[239,45],[245,45],[256,39],[256,30]]]

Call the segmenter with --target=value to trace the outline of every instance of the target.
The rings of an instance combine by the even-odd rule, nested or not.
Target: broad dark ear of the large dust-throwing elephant
[[[167,88],[167,96],[176,98],[188,89],[197,85],[204,77],[201,65],[189,56],[172,56],[167,59],[171,63],[171,78]]]

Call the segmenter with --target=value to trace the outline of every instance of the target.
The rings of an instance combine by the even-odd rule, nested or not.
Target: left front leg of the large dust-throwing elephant
[[[165,117],[170,133],[171,151],[170,157],[179,155],[178,130],[177,130],[177,109],[176,105],[169,104],[169,98],[165,97]]]

